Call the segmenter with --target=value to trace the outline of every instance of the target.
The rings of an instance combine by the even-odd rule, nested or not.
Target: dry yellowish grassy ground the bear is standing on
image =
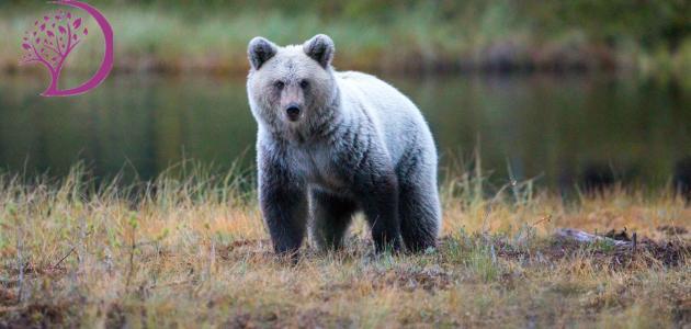
[[[691,208],[671,196],[565,202],[519,183],[487,197],[480,175],[454,174],[439,250],[373,254],[359,219],[346,250],[293,265],[271,253],[241,175],[94,190],[81,172],[0,180],[0,327],[691,324]],[[559,227],[641,242],[576,245]]]

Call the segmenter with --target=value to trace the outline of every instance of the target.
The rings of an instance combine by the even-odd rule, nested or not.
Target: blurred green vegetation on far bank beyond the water
[[[337,42],[337,66],[390,72],[634,69],[691,72],[689,1],[91,1],[116,31],[118,70],[245,73],[256,35],[279,44],[316,33]],[[46,7],[0,5],[0,67]],[[90,71],[99,43],[69,67]]]

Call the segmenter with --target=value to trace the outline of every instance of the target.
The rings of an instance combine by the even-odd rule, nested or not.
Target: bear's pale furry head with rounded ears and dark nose
[[[333,52],[333,42],[324,34],[285,47],[252,38],[247,91],[257,118],[274,129],[295,129],[314,126],[332,111],[338,94]]]

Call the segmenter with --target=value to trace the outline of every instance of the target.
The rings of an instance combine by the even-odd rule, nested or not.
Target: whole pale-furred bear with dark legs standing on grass
[[[335,71],[333,54],[326,35],[249,43],[259,201],[274,250],[296,252],[307,227],[318,247],[338,248],[358,211],[377,251],[433,248],[441,207],[427,123],[386,82]]]

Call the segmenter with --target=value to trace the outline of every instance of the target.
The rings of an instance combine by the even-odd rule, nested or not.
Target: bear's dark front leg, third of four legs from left
[[[399,251],[398,180],[393,170],[359,174],[356,186],[376,251]]]

